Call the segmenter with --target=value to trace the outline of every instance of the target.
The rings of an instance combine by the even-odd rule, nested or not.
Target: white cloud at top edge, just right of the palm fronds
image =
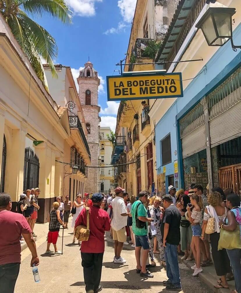
[[[70,8],[79,16],[95,15],[95,3],[102,0],[66,0]]]

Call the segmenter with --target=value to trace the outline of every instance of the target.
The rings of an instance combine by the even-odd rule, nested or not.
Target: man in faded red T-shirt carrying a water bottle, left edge
[[[32,253],[30,265],[39,264],[32,230],[22,214],[11,212],[8,193],[0,193],[0,291],[13,293],[21,262],[20,237],[23,235]]]

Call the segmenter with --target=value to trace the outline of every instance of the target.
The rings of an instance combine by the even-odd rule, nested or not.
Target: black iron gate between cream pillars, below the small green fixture
[[[23,190],[39,185],[39,158],[30,147],[25,148]]]

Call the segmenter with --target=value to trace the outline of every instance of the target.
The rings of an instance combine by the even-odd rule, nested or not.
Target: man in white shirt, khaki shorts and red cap
[[[111,221],[112,236],[114,240],[114,263],[126,263],[126,260],[122,258],[121,251],[123,243],[127,241],[126,224],[127,217],[130,213],[127,213],[126,205],[124,203],[124,189],[117,187],[115,189],[116,197],[111,201],[113,218]]]

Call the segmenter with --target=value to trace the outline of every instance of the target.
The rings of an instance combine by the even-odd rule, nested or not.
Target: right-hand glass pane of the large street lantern
[[[214,13],[219,37],[231,38],[231,16],[229,13]]]

